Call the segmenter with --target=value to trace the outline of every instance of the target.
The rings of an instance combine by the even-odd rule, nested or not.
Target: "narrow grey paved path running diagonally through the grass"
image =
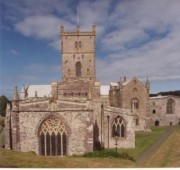
[[[139,158],[137,158],[136,162],[138,164],[143,164],[146,161],[146,159],[149,158],[159,148],[159,146],[169,137],[172,131],[173,127],[169,126],[166,132],[162,134],[160,139],[152,147],[150,147],[147,151],[140,155]]]

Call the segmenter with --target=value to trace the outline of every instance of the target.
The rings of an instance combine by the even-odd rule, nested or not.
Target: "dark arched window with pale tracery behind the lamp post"
[[[112,123],[112,137],[125,137],[125,122],[122,117],[117,116]]]

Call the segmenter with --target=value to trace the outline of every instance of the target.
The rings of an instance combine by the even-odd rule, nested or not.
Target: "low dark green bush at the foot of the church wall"
[[[125,152],[119,153],[114,150],[107,150],[107,149],[101,150],[101,151],[86,152],[85,154],[83,154],[83,157],[120,158],[120,159],[128,159],[128,160],[134,161],[134,158],[129,156]]]

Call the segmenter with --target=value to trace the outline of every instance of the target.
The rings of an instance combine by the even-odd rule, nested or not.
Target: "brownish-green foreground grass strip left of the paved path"
[[[97,168],[97,167],[123,167],[134,166],[134,162],[114,158],[83,158],[83,157],[52,157],[34,155],[32,152],[22,153],[0,149],[1,167],[23,167],[23,168]]]

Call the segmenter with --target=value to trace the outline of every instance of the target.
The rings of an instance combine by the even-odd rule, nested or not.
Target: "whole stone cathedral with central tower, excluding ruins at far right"
[[[149,130],[150,82],[102,85],[96,79],[96,28],[61,26],[62,80],[14,89],[7,107],[5,147],[39,155],[77,155],[101,148],[135,148],[135,131]],[[149,115],[149,116],[148,116]]]

